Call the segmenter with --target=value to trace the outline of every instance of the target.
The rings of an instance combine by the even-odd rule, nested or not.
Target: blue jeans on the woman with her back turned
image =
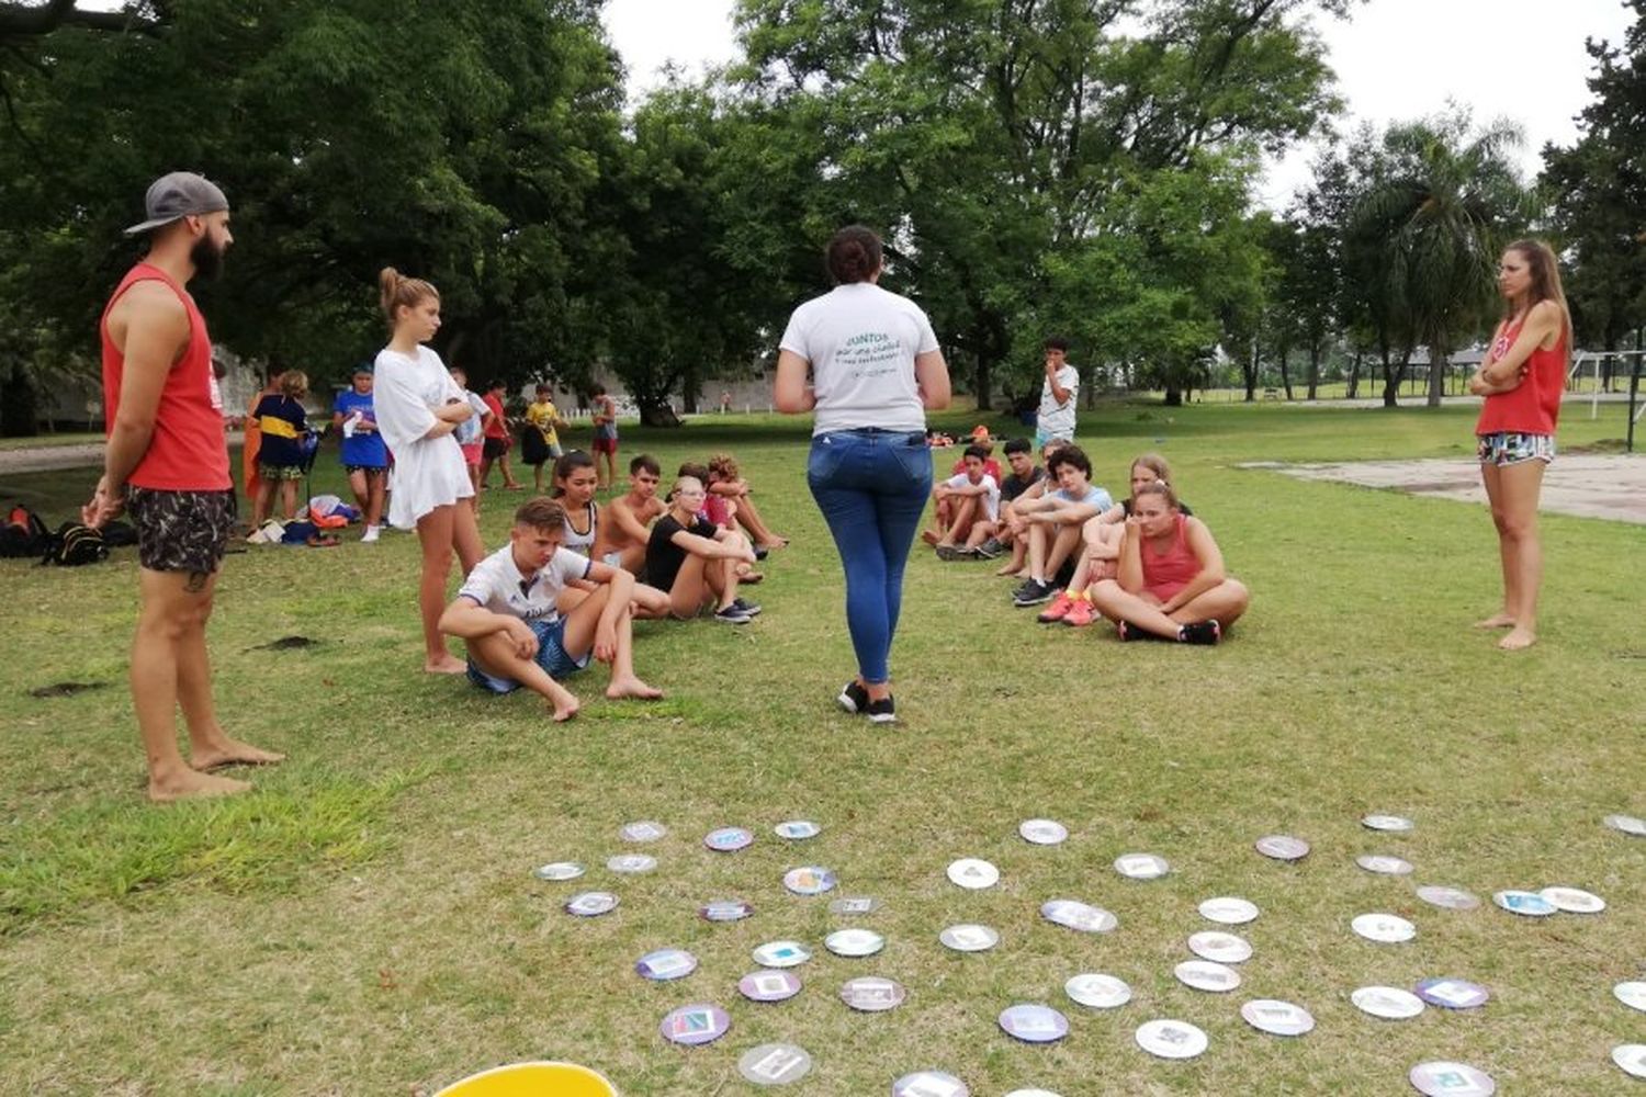
[[[846,571],[846,628],[858,673],[866,683],[889,681],[904,567],[932,493],[925,434],[877,428],[816,434],[807,484]]]

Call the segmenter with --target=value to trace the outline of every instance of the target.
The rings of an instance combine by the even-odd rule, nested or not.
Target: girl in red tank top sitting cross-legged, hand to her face
[[[1093,586],[1091,604],[1119,627],[1121,640],[1216,643],[1251,594],[1223,571],[1207,523],[1177,508],[1165,480],[1151,480],[1132,493],[1119,576]]]

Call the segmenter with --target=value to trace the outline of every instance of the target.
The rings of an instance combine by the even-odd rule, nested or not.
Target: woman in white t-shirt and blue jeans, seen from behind
[[[863,225],[830,240],[835,289],[788,319],[774,403],[779,411],[816,411],[807,484],[846,571],[846,627],[858,655],[858,676],[839,704],[890,724],[889,655],[904,566],[932,492],[925,411],[946,408],[950,386],[932,321],[876,285],[881,257],[881,238]]]

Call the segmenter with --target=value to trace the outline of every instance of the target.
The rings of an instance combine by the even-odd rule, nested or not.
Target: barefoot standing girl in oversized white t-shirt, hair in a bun
[[[482,556],[474,508],[458,505],[474,495],[454,431],[474,410],[451,380],[439,355],[423,344],[439,331],[439,293],[393,266],[379,275],[388,345],[377,352],[377,429],[395,456],[390,472],[388,521],[416,526],[423,546],[418,605],[423,615],[423,669],[461,674],[467,664],[446,650],[439,615],[456,549],[463,574]]]

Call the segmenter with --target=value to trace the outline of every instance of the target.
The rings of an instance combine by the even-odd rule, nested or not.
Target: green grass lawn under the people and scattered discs
[[[1641,526],[1547,516],[1542,641],[1506,656],[1468,628],[1498,597],[1483,508],[1234,467],[1462,457],[1472,411],[1108,406],[1081,416],[1098,482],[1119,493],[1131,456],[1162,451],[1251,586],[1251,615],[1215,650],[1119,645],[1101,627],[1039,627],[991,567],[918,553],[894,651],[902,724],[869,730],[833,707],[851,650],[838,558],[805,490],[805,428],[706,419],[627,431],[625,452],[644,446],[672,470],[732,449],[795,543],[769,561],[754,625],[637,627],[639,669],[667,701],[599,699],[594,669],[573,684],[583,714],[556,727],[528,697],[420,674],[408,535],[255,549],[226,566],[217,699],[234,730],[290,761],[232,803],[142,798],[123,684],[133,551],[87,569],[0,562],[0,1092],[405,1095],[560,1058],[625,1094],[742,1094],[739,1054],[772,1039],[815,1059],[795,1092],[828,1095],[886,1094],[923,1067],[978,1097],[1399,1094],[1427,1059],[1473,1062],[1509,1094],[1633,1092],[1608,1054],[1646,1041],[1646,1016],[1611,985],[1646,970],[1646,840],[1600,819],[1646,814]],[[1598,423],[1569,413],[1562,446],[1621,433],[1616,406]],[[321,465],[316,490],[336,490],[332,451]],[[0,498],[56,523],[95,475],[5,479]],[[489,544],[517,500],[486,495]],[[293,633],[319,643],[258,650]],[[61,681],[102,687],[28,694]],[[1368,811],[1417,829],[1373,834],[1358,822]],[[1022,842],[1034,816],[1065,822],[1070,840]],[[825,831],[785,844],[770,827],[792,817]],[[617,837],[634,819],[670,835],[644,850],[657,872],[616,877],[604,862],[634,849]],[[704,850],[724,824],[752,827],[756,844]],[[1314,854],[1258,855],[1271,832]],[[1172,875],[1121,878],[1109,865],[1129,850],[1164,855]],[[1417,872],[1373,877],[1355,865],[1363,852]],[[1001,885],[950,885],[945,867],[966,855],[997,863]],[[589,872],[537,882],[550,860]],[[828,913],[833,896],[788,895],[782,873],[802,863],[884,908],[849,921]],[[1419,883],[1488,906],[1442,911],[1414,896]],[[1490,906],[1498,888],[1551,883],[1610,910],[1534,921]],[[584,888],[622,906],[560,913]],[[1172,977],[1187,936],[1211,928],[1195,906],[1215,895],[1262,908],[1238,929],[1256,954],[1233,995]],[[756,914],[701,921],[696,908],[723,896]],[[1114,911],[1119,929],[1044,923],[1040,903],[1058,896]],[[1361,941],[1348,923],[1368,911],[1411,918],[1417,939]],[[994,926],[999,947],[948,952],[938,931],[960,921]],[[846,924],[886,934],[886,951],[826,954],[823,936]],[[779,937],[815,951],[797,972],[807,988],[742,1000],[749,951]],[[642,980],[634,960],[665,946],[693,951],[698,972]],[[1134,1000],[1106,1013],[1068,1002],[1063,982],[1086,970],[1128,980]],[[900,980],[907,1003],[848,1010],[836,992],[866,974]],[[1348,1002],[1360,985],[1429,975],[1493,998],[1397,1023]],[[1251,1030],[1239,1003],[1256,997],[1307,1007],[1317,1030]],[[663,1043],[658,1021],[686,1002],[723,1005],[731,1033]],[[1070,1036],[1016,1043],[996,1016],[1017,1002],[1058,1007]],[[1200,1025],[1210,1051],[1149,1058],[1132,1031],[1157,1016]]]

